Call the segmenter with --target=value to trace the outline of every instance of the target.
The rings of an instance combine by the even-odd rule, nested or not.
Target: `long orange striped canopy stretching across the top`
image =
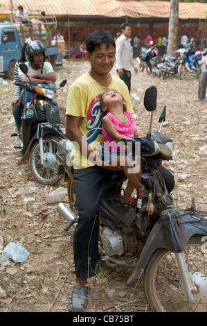
[[[12,0],[13,13],[19,5],[55,16],[170,17],[168,1],[136,0]],[[207,3],[179,3],[179,19],[206,19]],[[10,0],[0,1],[0,14],[10,14]]]

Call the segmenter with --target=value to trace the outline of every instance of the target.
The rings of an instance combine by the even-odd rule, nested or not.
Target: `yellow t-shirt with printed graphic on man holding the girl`
[[[127,101],[127,111],[133,112],[127,86],[123,80],[113,75],[111,75],[111,85],[102,87],[86,72],[71,85],[67,98],[66,114],[83,118],[80,124],[80,132],[96,153],[98,153],[99,144],[102,144],[100,96],[107,89],[116,89]],[[82,155],[75,146],[71,153],[71,160],[74,169],[84,169],[95,165]]]

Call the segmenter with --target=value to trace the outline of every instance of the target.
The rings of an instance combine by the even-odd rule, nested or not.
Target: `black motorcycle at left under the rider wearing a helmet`
[[[24,74],[28,74],[28,67],[24,63],[19,67]],[[58,142],[66,139],[60,129],[64,126],[66,110],[55,105],[53,99],[57,98],[57,94],[47,85],[20,82],[15,82],[15,85],[33,94],[32,101],[23,108],[21,132],[11,135],[16,137],[18,145],[15,148],[20,148],[23,155],[20,163],[29,161],[30,172],[40,184],[55,184],[60,180],[55,153]],[[66,80],[60,83],[60,87],[64,85]]]

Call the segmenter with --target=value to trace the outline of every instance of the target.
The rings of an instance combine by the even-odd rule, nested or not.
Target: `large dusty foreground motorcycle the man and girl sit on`
[[[165,121],[164,106],[159,132],[152,132],[156,110],[156,87],[145,92],[144,105],[151,111],[150,131],[135,137],[132,149],[141,144],[141,183],[145,194],[133,207],[123,207],[121,190],[125,175],[110,172],[105,180],[100,205],[100,259],[109,266],[134,268],[127,284],[143,275],[145,297],[152,311],[206,311],[207,293],[207,212],[192,207],[174,207],[165,181],[159,173],[163,160],[172,160],[173,141],[161,132]],[[57,205],[67,221],[64,230],[78,221],[74,191],[73,165],[69,139],[58,143],[57,160],[68,178],[70,209]],[[140,254],[141,252],[141,254]]]

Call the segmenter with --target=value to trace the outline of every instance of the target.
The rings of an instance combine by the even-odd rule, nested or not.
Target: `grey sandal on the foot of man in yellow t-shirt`
[[[88,289],[73,287],[69,299],[70,312],[84,312],[88,305]]]

